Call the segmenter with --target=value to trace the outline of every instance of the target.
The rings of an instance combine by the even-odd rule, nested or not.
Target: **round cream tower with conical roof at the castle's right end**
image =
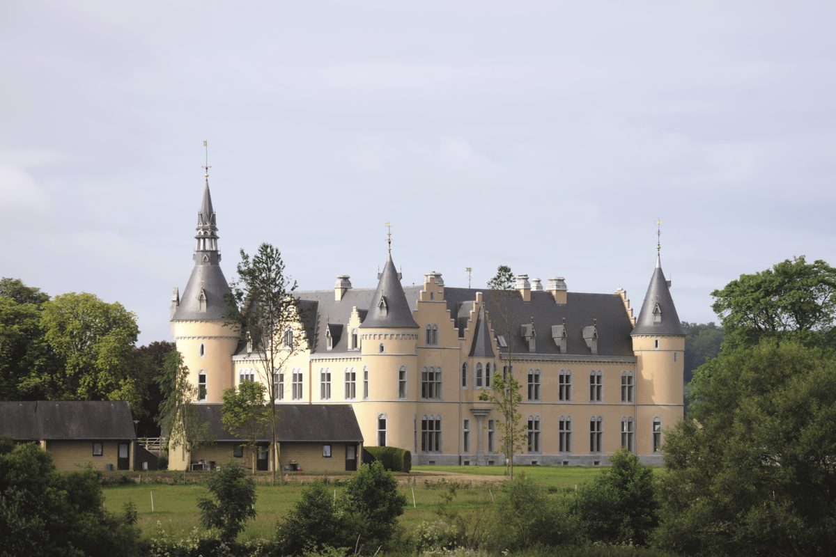
[[[645,301],[630,337],[637,375],[636,453],[660,458],[665,428],[683,417],[686,332],[676,313],[670,296],[670,281],[665,279],[658,254]]]

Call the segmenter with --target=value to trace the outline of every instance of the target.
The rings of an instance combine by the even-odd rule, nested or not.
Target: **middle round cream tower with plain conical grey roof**
[[[369,312],[359,326],[360,354],[369,368],[369,399],[354,404],[365,444],[413,450],[418,400],[418,324],[390,251]]]

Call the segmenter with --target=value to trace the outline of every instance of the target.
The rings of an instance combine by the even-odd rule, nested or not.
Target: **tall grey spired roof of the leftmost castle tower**
[[[227,313],[229,284],[221,270],[217,249],[217,225],[209,180],[203,188],[201,209],[197,212],[195,266],[171,321],[223,320]]]

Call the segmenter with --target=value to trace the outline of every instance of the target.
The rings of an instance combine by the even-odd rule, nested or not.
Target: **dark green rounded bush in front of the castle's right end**
[[[609,461],[609,468],[578,490],[572,512],[588,539],[644,545],[659,522],[653,469],[625,448]]]

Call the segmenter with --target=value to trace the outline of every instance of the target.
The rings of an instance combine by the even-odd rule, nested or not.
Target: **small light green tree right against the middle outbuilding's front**
[[[268,429],[269,413],[264,408],[266,396],[264,385],[259,382],[242,382],[223,392],[221,422],[231,433],[245,433],[247,447],[252,464],[252,473],[256,473],[256,446],[258,438]]]

